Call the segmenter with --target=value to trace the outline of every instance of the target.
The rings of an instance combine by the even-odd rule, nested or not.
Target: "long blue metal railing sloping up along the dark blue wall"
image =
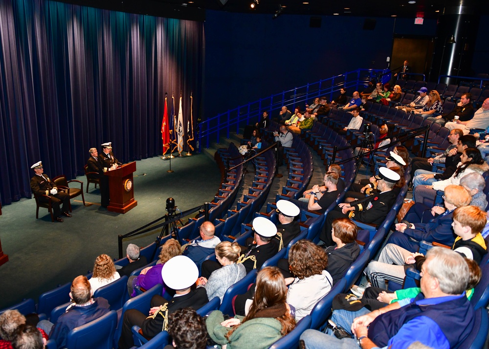
[[[323,95],[329,95],[329,99],[331,100],[333,99],[333,93],[337,92],[340,88],[354,87],[355,89],[359,89],[361,85],[368,84],[368,81],[374,77],[378,78],[383,71],[381,69],[357,69],[349,71],[328,79],[319,80],[315,83],[294,87],[293,89],[273,94],[204,120],[199,124],[199,151],[202,150],[202,146],[209,148],[211,139],[219,143],[223,132],[225,132],[226,138],[229,138],[231,128],[235,127],[236,133],[239,133],[240,127],[249,124],[250,119],[258,121],[258,117],[265,110],[269,112],[269,117],[271,118],[273,112],[282,108],[284,105],[295,106],[298,103],[310,101],[315,97]]]

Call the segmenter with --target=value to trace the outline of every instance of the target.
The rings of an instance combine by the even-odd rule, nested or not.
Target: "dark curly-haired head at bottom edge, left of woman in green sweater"
[[[168,333],[173,343],[164,349],[205,349],[207,329],[205,320],[193,308],[183,308],[169,315]]]

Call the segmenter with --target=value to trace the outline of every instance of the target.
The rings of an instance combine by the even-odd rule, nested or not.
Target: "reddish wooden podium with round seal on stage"
[[[107,171],[109,176],[109,191],[111,203],[107,207],[108,211],[126,213],[135,206],[133,189],[133,172],[136,171],[136,163],[124,164],[117,170]]]

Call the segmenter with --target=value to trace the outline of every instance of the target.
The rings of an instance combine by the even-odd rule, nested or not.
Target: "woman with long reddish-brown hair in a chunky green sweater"
[[[248,315],[224,320],[221,311],[213,311],[205,322],[207,332],[227,349],[268,348],[295,327],[286,301],[287,286],[282,273],[276,267],[263,268],[256,277],[255,297]]]

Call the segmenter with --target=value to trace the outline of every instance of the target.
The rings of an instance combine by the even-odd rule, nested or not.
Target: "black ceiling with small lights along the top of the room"
[[[61,0],[92,7],[188,20],[205,20],[205,10],[273,15],[308,16],[361,16],[402,17],[425,19],[437,18],[453,11],[488,15],[489,6],[484,0],[258,0],[251,9],[253,0]],[[225,1],[225,4],[222,2]],[[256,1],[256,0],[255,0]],[[462,6],[461,6],[462,5]]]

